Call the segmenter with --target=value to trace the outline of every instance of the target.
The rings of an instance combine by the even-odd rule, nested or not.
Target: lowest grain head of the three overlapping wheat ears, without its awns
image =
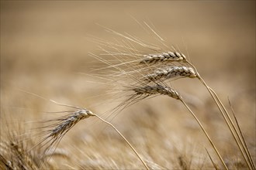
[[[170,87],[163,87],[160,84],[155,86],[145,86],[145,87],[136,87],[132,89],[136,94],[162,94],[168,95],[169,97],[180,99],[180,95],[176,90],[171,89]]]

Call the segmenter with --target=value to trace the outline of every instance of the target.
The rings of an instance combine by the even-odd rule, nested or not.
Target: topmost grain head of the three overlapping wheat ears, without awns
[[[157,54],[147,54],[140,60],[140,64],[154,64],[154,63],[167,63],[167,62],[181,62],[186,60],[186,57],[182,53],[167,52]]]

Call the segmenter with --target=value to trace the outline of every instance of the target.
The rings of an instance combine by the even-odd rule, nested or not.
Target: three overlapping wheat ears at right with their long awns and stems
[[[171,81],[173,80],[179,78],[197,78],[209,91],[216,107],[220,110],[220,114],[223,116],[228,130],[232,134],[234,142],[236,143],[237,148],[239,148],[247,168],[255,169],[253,159],[247,148],[247,144],[244,141],[244,136],[240,130],[234,111],[232,110],[232,116],[234,117],[233,121],[231,114],[227,111],[227,108],[223,105],[216,92],[202,79],[202,76],[199,75],[198,70],[196,70],[189,59],[173,46],[168,48],[157,32],[147,25],[147,23],[145,23],[145,26],[156,38],[155,42],[161,42],[161,45],[164,45],[163,49],[159,48],[157,45],[137,39],[128,33],[120,33],[108,28],[105,28],[106,31],[120,37],[121,40],[115,39],[115,42],[109,42],[104,41],[104,39],[93,39],[93,41],[99,43],[99,49],[103,53],[100,55],[91,53],[91,56],[106,64],[105,67],[101,66],[100,68],[95,69],[95,71],[101,75],[100,77],[103,80],[109,80],[109,83],[112,82],[115,86],[118,82],[119,85],[123,87],[123,90],[121,90],[122,93],[125,91],[130,92],[128,99],[119,104],[117,108],[121,107],[120,110],[123,110],[123,108],[137,103],[140,100],[157,95],[166,95],[176,100],[180,100],[189,110],[189,113],[195,118],[195,121],[197,121],[203,133],[206,134],[206,138],[208,138],[210,145],[212,145],[214,151],[216,151],[216,155],[220,158],[223,168],[228,169],[226,163],[223,161],[223,157],[220,155],[220,151],[218,151],[214,145],[213,140],[209,137],[209,134],[202,126],[202,123],[189,108],[188,104],[185,103],[182,95],[171,87]],[[137,45],[153,51],[153,53],[144,52],[143,50],[138,49]],[[106,74],[106,70],[110,70],[109,74]],[[104,73],[103,75],[106,76],[102,76],[101,71]],[[208,151],[207,153],[209,154]],[[210,155],[209,158],[213,162]],[[218,168],[214,162],[213,165],[215,168]]]

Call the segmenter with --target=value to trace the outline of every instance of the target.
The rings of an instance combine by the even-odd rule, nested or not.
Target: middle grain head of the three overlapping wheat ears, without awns
[[[176,76],[195,78],[197,75],[192,67],[187,66],[168,66],[154,71],[154,73],[147,74],[144,80],[157,81],[174,78]]]

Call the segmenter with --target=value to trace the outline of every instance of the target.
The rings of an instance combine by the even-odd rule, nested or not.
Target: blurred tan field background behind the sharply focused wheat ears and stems
[[[254,1],[1,1],[1,140],[7,124],[19,122],[28,131],[31,124],[26,121],[48,117],[44,111],[64,110],[29,93],[99,114],[115,106],[104,104],[111,98],[107,87],[79,73],[90,73],[90,66],[99,64],[88,56],[99,53],[89,36],[112,41],[101,26],[154,40],[133,18],[150,22],[168,45],[189,54],[227,106],[230,98],[255,161]],[[173,85],[201,118],[230,168],[244,168],[205,87],[198,80]],[[218,162],[198,124],[182,104],[168,97],[135,104],[112,124],[152,168],[213,168],[205,148]],[[72,128],[58,148],[68,157],[61,158],[61,164],[53,158],[55,168],[143,168],[122,139],[94,118]]]

